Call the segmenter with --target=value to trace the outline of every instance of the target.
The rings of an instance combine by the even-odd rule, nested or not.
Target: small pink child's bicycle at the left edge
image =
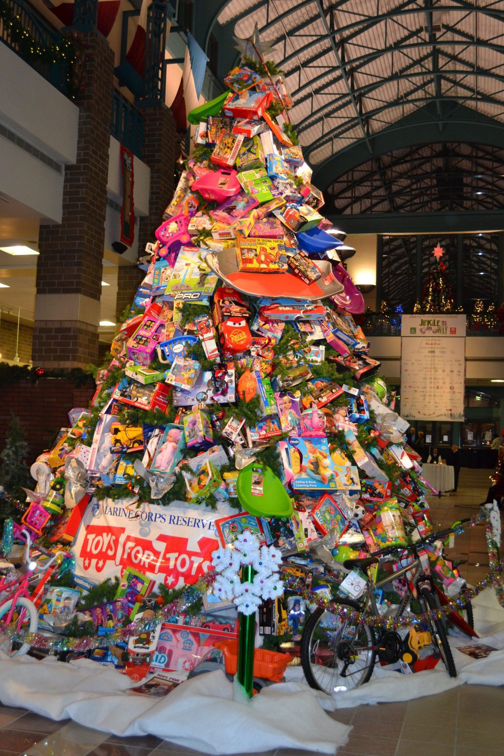
[[[26,654],[29,650],[29,643],[20,643],[13,640],[11,633],[26,631],[36,633],[39,627],[39,612],[36,604],[30,598],[29,584],[33,572],[39,567],[37,562],[32,562],[29,558],[29,547],[31,539],[29,531],[23,531],[23,540],[25,540],[23,565],[14,565],[7,559],[0,557],[0,650],[9,656]],[[48,568],[57,559],[57,556],[64,554],[58,552],[45,563],[43,571],[50,575]],[[15,566],[26,570],[22,575],[12,575]],[[36,589],[37,595],[42,595],[42,588],[47,578],[42,578],[39,587]]]

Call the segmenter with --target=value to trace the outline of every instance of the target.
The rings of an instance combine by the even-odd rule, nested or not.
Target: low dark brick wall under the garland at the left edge
[[[36,383],[25,379],[1,386],[0,450],[5,446],[13,411],[26,432],[28,462],[34,462],[42,451],[51,447],[59,429],[68,425],[68,411],[88,407],[94,389],[91,378],[82,386],[67,378],[39,378]]]

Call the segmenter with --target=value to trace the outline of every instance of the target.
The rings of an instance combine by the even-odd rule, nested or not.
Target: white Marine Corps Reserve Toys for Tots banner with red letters
[[[136,509],[125,500],[93,499],[72,547],[76,575],[100,583],[133,568],[172,589],[192,585],[208,572],[219,546],[219,517],[182,502]]]

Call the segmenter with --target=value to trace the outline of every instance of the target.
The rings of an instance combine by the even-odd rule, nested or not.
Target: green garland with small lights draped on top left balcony
[[[6,0],[0,0],[0,20],[4,26],[4,35],[27,63],[48,66],[57,63],[66,65],[64,88],[66,95],[75,99],[85,82],[84,63],[87,51],[82,42],[82,34],[76,29],[71,29],[62,33],[60,42],[45,45],[25,29],[20,17]]]

